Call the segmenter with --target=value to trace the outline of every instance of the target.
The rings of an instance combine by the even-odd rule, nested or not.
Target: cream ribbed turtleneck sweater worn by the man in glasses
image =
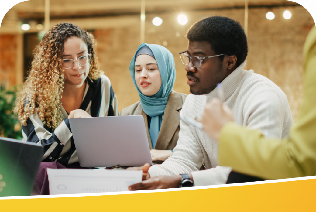
[[[234,122],[260,130],[266,138],[288,137],[293,118],[286,95],[266,77],[243,70],[245,64],[246,61],[222,81],[224,104],[232,108]],[[217,88],[205,95],[189,94],[180,112],[181,119],[193,114],[201,119],[208,96],[218,97]],[[207,170],[198,171],[203,158]],[[230,171],[230,167],[218,166],[217,142],[182,120],[172,156],[149,168],[151,177],[193,172],[195,186],[225,184]]]

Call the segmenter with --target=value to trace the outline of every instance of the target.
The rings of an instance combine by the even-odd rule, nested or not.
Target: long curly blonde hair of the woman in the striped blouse
[[[59,106],[65,82],[62,55],[64,43],[72,36],[83,39],[91,54],[88,78],[96,80],[103,74],[99,70],[95,52],[97,44],[93,35],[71,23],[55,25],[34,49],[32,69],[17,94],[14,112],[24,126],[35,109],[43,125],[52,130],[62,122],[63,114]]]

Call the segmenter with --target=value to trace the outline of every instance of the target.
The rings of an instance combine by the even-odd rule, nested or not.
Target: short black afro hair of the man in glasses
[[[212,16],[197,21],[188,29],[186,37],[190,41],[208,41],[216,54],[235,55],[237,66],[246,60],[248,54],[244,29],[228,17]]]

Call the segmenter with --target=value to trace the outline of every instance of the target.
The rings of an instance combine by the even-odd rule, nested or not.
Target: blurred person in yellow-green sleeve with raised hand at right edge
[[[265,139],[256,130],[234,124],[232,112],[218,99],[206,106],[202,124],[218,140],[221,166],[262,179],[316,174],[316,26],[307,36],[303,55],[303,97],[289,139]]]

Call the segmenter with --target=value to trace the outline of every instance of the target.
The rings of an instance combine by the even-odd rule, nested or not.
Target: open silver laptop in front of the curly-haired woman
[[[144,118],[70,118],[81,167],[152,165]]]

